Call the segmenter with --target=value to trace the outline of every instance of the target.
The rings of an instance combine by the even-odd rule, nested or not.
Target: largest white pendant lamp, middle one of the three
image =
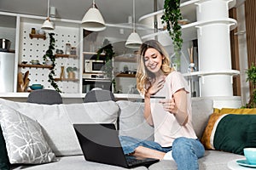
[[[99,9],[96,8],[95,0],[93,0],[92,8],[84,14],[82,27],[88,31],[103,31],[106,29],[105,21]]]

